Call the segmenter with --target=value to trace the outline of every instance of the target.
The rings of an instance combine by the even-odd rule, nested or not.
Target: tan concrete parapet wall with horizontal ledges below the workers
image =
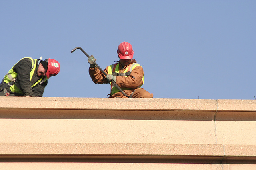
[[[0,97],[0,127],[4,167],[256,168],[256,100]]]

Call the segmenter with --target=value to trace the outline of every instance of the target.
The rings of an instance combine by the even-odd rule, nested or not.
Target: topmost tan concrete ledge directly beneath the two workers
[[[256,100],[0,97],[4,108],[256,111]]]

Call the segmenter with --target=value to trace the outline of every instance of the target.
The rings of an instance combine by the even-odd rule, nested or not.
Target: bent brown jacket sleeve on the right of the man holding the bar
[[[137,88],[143,84],[143,74],[143,68],[136,66],[129,76],[116,76],[116,84],[121,88]]]

